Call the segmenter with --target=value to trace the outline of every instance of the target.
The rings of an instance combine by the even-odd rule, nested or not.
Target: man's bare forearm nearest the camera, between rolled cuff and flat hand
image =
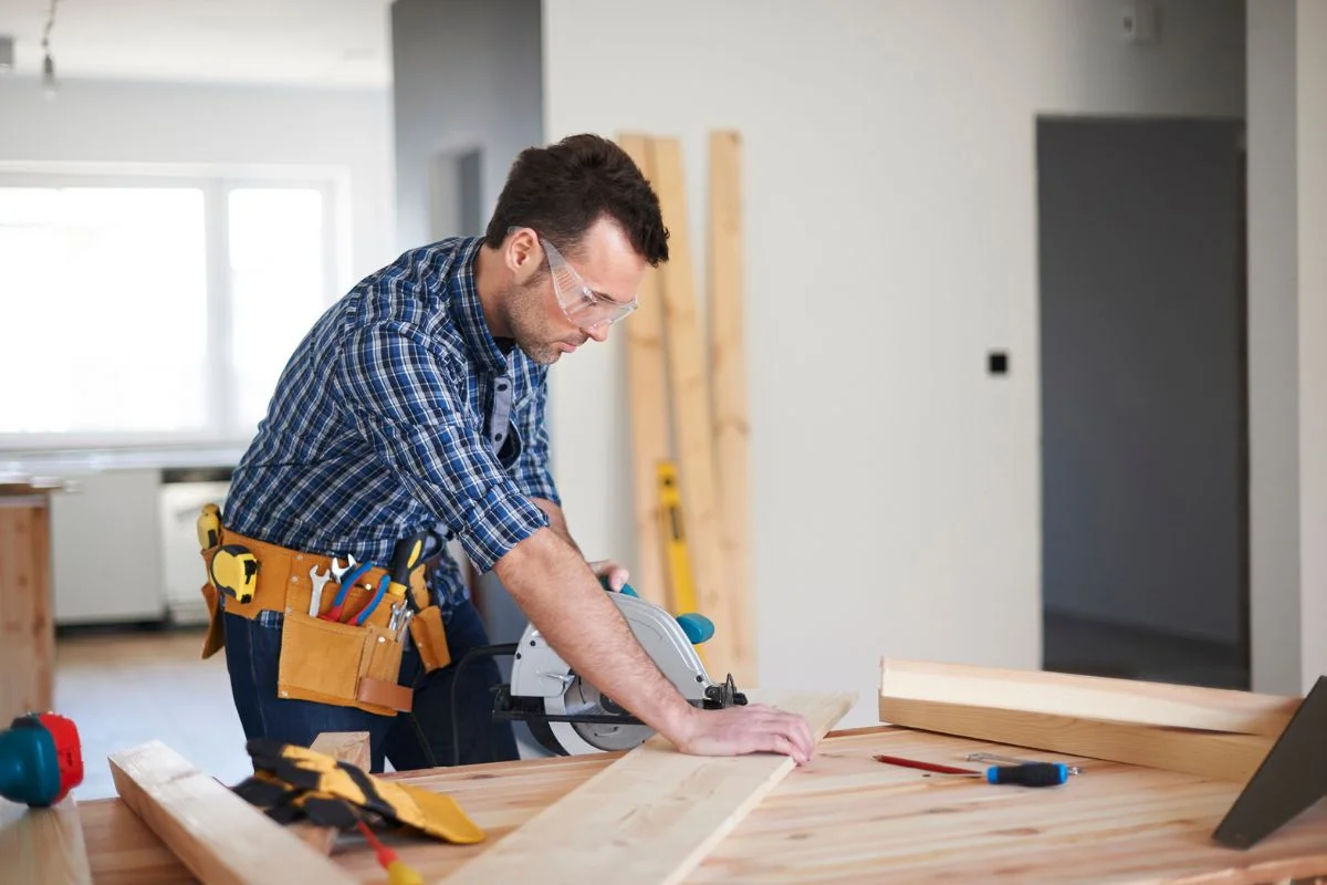
[[[637,642],[569,544],[539,529],[498,563],[498,577],[564,661],[648,726],[677,740],[695,709]]]

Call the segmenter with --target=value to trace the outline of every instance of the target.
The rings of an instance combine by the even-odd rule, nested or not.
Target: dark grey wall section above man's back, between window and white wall
[[[540,16],[539,0],[391,4],[402,249],[478,232],[471,175],[478,171],[478,206],[487,222],[516,154],[543,141]],[[456,180],[447,180],[449,169]],[[437,203],[464,208],[449,222]]]

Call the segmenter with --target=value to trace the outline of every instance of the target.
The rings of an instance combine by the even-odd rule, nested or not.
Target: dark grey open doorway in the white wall
[[[1249,687],[1242,139],[1038,121],[1047,670]]]

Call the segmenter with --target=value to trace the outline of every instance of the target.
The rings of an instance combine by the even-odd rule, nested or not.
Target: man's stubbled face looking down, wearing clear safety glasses
[[[515,283],[507,293],[507,318],[512,338],[525,356],[541,365],[552,365],[564,353],[572,353],[589,338],[605,341],[609,325],[594,324],[605,313],[613,313],[613,305],[605,301],[626,304],[636,295],[645,276],[645,259],[632,249],[617,224],[601,219],[596,222],[581,240],[580,248],[569,253],[547,252],[541,240],[537,260],[539,271],[532,272],[524,283]],[[553,244],[555,249],[563,244]],[[549,260],[556,265],[559,257],[565,268],[556,275],[548,272]],[[555,289],[555,279],[557,277]],[[589,289],[589,295],[581,291]],[[559,300],[561,296],[561,301]],[[594,299],[598,304],[588,310],[580,310],[583,303]],[[575,320],[567,316],[563,301],[572,309]],[[584,324],[584,325],[583,325]]]

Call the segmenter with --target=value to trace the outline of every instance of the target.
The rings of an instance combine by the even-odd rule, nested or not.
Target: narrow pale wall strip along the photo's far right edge
[[[1307,691],[1327,675],[1327,4],[1298,5],[1299,624]]]

